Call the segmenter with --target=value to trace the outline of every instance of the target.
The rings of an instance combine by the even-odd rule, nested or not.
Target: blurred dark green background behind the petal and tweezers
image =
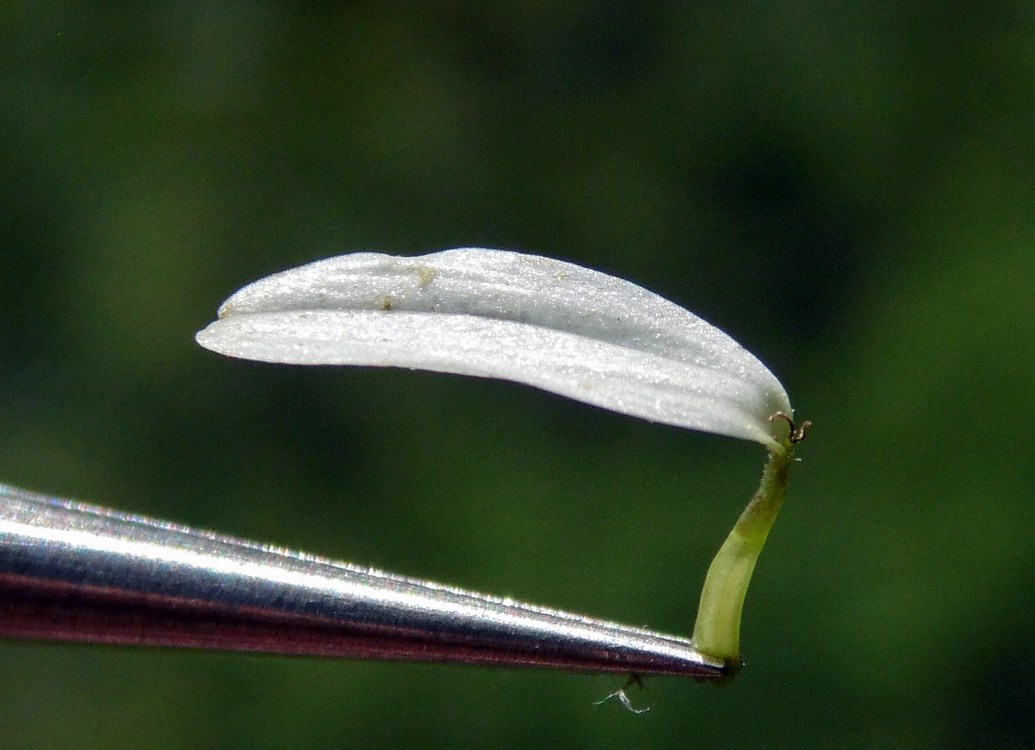
[[[0,643],[0,747],[1035,744],[1030,3],[16,1],[0,61],[0,481],[687,633],[758,446],[194,343],[353,249],[633,279],[816,423],[728,689]]]

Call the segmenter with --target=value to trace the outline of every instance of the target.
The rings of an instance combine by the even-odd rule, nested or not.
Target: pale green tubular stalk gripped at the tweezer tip
[[[787,494],[794,446],[781,447],[770,450],[759,488],[712,560],[701,590],[693,644],[701,653],[721,659],[731,676],[741,664],[740,616],[747,584]]]

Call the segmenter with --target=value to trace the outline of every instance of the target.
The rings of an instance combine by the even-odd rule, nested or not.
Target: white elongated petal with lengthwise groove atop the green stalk
[[[198,342],[267,362],[502,378],[767,446],[770,415],[791,414],[765,365],[691,312],[629,281],[506,250],[310,263],[233,295]]]

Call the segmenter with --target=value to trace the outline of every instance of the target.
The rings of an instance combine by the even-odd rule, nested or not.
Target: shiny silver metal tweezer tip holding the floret
[[[727,676],[686,638],[0,484],[0,637]]]

